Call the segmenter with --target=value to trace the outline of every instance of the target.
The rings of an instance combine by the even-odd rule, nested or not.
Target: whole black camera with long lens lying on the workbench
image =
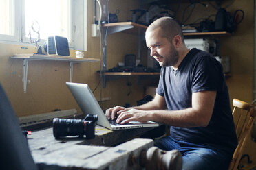
[[[55,138],[65,136],[80,136],[86,139],[95,137],[97,115],[87,114],[85,119],[53,119],[53,135]]]

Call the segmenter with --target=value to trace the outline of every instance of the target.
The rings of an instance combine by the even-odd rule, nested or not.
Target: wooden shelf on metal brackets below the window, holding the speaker
[[[70,82],[72,82],[73,77],[73,65],[74,63],[80,62],[98,62],[98,58],[71,58],[67,56],[47,56],[43,54],[14,54],[10,58],[12,59],[23,59],[23,91],[26,93],[27,90],[27,80],[28,80],[28,62],[31,60],[53,60],[53,61],[63,61],[70,62]]]

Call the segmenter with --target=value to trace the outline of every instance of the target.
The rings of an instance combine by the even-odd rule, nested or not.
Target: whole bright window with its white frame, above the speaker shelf
[[[1,0],[0,40],[30,43],[39,32],[39,45],[58,35],[66,37],[71,48],[85,51],[86,13],[86,0]]]

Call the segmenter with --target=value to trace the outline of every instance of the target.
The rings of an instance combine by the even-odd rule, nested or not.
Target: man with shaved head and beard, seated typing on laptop
[[[178,149],[182,169],[227,169],[237,146],[222,66],[211,54],[187,49],[180,25],[170,17],[146,31],[147,47],[162,66],[156,97],[142,106],[106,111],[117,123],[156,121],[170,125],[170,136],[155,141]]]

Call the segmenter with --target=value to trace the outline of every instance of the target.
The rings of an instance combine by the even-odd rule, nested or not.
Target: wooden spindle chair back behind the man
[[[242,157],[246,141],[250,140],[250,132],[256,117],[256,106],[248,104],[238,99],[233,99],[233,119],[235,123],[235,131],[237,133],[238,145],[233,154],[233,158],[228,170],[237,169],[239,160]]]

